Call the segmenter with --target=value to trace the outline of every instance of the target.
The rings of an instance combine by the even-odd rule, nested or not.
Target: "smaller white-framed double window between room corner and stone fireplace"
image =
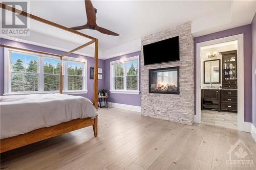
[[[139,94],[139,56],[111,62],[111,92]]]

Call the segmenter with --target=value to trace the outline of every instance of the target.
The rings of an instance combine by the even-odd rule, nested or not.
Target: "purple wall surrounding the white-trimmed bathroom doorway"
[[[223,37],[228,37],[232,35],[237,35],[237,34],[244,34],[244,121],[252,122],[251,25],[245,25],[245,26],[194,38],[195,73],[196,73],[196,64],[197,64],[197,61],[196,61],[197,60],[197,57],[196,57],[197,43],[218,39],[218,38],[223,38]],[[195,74],[195,87],[196,87],[196,74]],[[195,94],[196,94],[196,88],[195,88]],[[195,110],[196,110],[196,99],[195,99]]]

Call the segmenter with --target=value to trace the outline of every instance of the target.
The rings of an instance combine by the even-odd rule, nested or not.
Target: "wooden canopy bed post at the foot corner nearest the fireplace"
[[[93,105],[98,110],[98,39],[95,40],[94,50],[95,52],[94,52]],[[94,136],[97,137],[98,117],[94,118],[93,133],[94,133]]]

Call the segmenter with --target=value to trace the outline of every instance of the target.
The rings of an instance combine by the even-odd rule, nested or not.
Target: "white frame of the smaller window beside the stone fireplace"
[[[126,63],[129,61],[134,61],[137,60],[138,62],[138,83],[137,83],[137,90],[116,90],[115,89],[115,83],[114,83],[114,70],[115,70],[115,64],[121,64],[121,63]],[[126,65],[124,64],[124,79],[123,79],[123,86],[126,88]],[[140,94],[140,60],[139,56],[134,56],[134,57],[129,57],[129,58],[124,58],[120,60],[115,60],[110,62],[110,92],[111,93],[121,93],[121,94]]]

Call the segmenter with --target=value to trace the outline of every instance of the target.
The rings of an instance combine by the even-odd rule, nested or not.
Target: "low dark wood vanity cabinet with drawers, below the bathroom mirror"
[[[218,111],[235,111],[238,108],[238,91],[223,89],[203,89],[202,109],[218,109]]]

